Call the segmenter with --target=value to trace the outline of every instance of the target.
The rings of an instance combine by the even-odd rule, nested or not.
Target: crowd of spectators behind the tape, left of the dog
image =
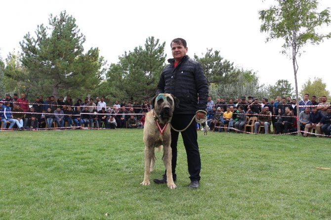
[[[34,102],[27,100],[25,93],[13,97],[5,94],[0,100],[1,130],[37,130],[37,129],[116,129],[143,128],[146,112],[152,110],[151,102],[139,103],[115,101],[107,106],[104,97],[85,97],[74,103],[71,96],[43,96]]]

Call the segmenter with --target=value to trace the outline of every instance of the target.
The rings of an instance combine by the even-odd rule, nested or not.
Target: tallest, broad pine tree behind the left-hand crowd
[[[76,19],[66,11],[50,15],[49,27],[39,25],[36,37],[30,33],[20,42],[22,64],[27,68],[31,83],[41,88],[52,88],[55,97],[59,89],[92,90],[100,82],[104,69],[98,48],[84,52],[85,37],[76,25]]]

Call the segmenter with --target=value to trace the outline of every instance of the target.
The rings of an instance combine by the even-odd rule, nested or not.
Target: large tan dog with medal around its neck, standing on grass
[[[144,181],[140,184],[151,184],[150,174],[156,160],[154,149],[163,146],[162,160],[166,168],[166,184],[170,189],[174,189],[176,185],[173,183],[171,172],[171,135],[168,123],[171,121],[172,112],[178,105],[178,101],[173,95],[162,93],[154,97],[152,105],[153,110],[147,113],[144,125],[145,173]]]

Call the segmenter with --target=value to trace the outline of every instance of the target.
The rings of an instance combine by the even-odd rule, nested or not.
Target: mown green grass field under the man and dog
[[[331,139],[199,132],[201,185],[142,186],[142,130],[0,132],[1,220],[331,219]],[[164,173],[162,153],[151,179]]]

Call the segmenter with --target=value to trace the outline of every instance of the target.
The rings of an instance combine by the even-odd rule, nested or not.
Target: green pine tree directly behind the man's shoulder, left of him
[[[156,93],[160,74],[165,66],[165,42],[148,37],[145,47],[125,52],[107,73],[110,94],[118,98],[151,98]]]

